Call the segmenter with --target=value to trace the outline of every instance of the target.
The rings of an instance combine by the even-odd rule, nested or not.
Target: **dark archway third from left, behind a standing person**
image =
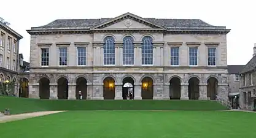
[[[79,77],[76,80],[76,99],[80,99],[79,91],[81,91],[82,99],[87,99],[87,80],[84,77]]]

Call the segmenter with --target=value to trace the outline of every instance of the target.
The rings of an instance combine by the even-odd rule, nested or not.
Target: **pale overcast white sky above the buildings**
[[[256,43],[256,9],[252,0],[128,0],[128,1],[1,1],[0,17],[24,38],[20,53],[29,61],[30,36],[26,29],[56,19],[117,17],[131,12],[139,17],[199,18],[231,29],[227,35],[228,64],[246,64]]]

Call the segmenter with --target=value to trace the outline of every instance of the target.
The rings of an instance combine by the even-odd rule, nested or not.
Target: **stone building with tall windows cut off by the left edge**
[[[14,81],[14,93],[18,90],[18,48],[23,37],[9,27],[9,23],[0,17],[0,82],[1,86],[6,80]]]

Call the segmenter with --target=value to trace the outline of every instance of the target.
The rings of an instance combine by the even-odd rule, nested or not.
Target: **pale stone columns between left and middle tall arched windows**
[[[123,42],[115,42],[115,66],[123,64]]]

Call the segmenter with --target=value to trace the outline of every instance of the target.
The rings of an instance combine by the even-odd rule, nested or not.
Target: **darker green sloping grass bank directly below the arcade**
[[[227,110],[215,101],[92,101],[92,100],[48,100],[25,99],[0,96],[0,110],[10,109],[10,113],[25,113],[44,110]]]

